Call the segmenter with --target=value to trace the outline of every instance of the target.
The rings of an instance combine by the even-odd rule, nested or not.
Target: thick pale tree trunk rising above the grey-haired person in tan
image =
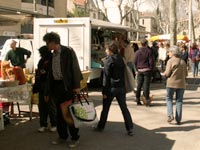
[[[176,45],[176,0],[170,0],[170,46]]]

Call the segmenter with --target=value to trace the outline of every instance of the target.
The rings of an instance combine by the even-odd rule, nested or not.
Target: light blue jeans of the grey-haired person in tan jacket
[[[176,115],[175,119],[177,122],[181,121],[182,118],[182,104],[183,104],[183,95],[184,95],[184,89],[175,89],[175,88],[167,88],[167,96],[166,96],[166,102],[167,102],[167,115],[169,117],[173,117],[173,95],[176,93]]]

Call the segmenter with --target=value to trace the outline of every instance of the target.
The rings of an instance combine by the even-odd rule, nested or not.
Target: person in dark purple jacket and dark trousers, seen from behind
[[[137,105],[142,105],[140,102],[141,89],[143,86],[144,104],[150,106],[151,100],[150,94],[150,82],[151,72],[154,69],[154,57],[151,50],[148,48],[148,41],[146,39],[141,40],[142,47],[135,53],[134,64],[137,69],[137,91],[136,101]]]

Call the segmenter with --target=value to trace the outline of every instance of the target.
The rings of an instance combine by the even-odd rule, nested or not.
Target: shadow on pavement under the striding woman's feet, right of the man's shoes
[[[84,134],[86,130],[87,135]],[[95,132],[90,128],[84,131],[81,132],[81,150],[169,150],[174,144],[165,134],[155,133],[137,125],[135,135],[130,137],[122,122],[107,122],[103,132]]]

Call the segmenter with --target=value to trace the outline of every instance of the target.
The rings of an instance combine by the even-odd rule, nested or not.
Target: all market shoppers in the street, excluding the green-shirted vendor
[[[39,93],[39,132],[47,127],[47,118],[50,117],[50,131],[57,131],[58,139],[52,144],[60,144],[71,139],[69,147],[79,144],[79,129],[68,117],[67,107],[72,103],[76,94],[80,93],[80,81],[83,79],[75,51],[71,47],[60,43],[57,33],[46,33],[43,37],[45,46],[39,49],[41,59],[36,71],[36,80],[33,92]],[[181,43],[169,46],[167,42],[153,42],[149,46],[146,39],[137,43],[124,40],[119,43],[111,41],[105,43],[105,58],[103,58],[102,81],[102,111],[94,131],[102,132],[105,129],[111,103],[116,98],[123,118],[127,135],[134,135],[134,124],[126,104],[126,85],[124,70],[130,69],[135,85],[137,106],[151,107],[152,95],[150,84],[159,76],[166,78],[167,121],[174,119],[181,124],[182,103],[185,91],[185,79],[188,72],[189,60],[192,64],[193,76],[198,76],[200,51],[197,44],[190,49]],[[161,77],[162,78],[162,77]],[[176,112],[173,113],[173,95],[176,94]]]

